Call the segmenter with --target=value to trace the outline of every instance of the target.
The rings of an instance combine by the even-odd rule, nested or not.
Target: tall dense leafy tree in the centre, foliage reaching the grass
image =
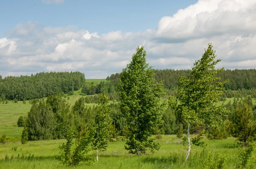
[[[125,115],[128,141],[125,149],[130,153],[153,152],[160,145],[150,138],[155,126],[160,124],[165,107],[161,104],[165,90],[162,83],[154,79],[154,69],[148,68],[144,47],[138,47],[132,61],[122,70],[119,86],[121,112]]]

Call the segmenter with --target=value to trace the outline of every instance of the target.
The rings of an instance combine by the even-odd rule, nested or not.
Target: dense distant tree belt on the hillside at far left
[[[81,72],[41,72],[31,76],[0,78],[0,99],[30,100],[79,90],[85,82]]]

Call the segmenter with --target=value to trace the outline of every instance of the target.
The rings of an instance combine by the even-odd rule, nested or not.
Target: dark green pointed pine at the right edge
[[[247,101],[243,101],[242,106],[236,108],[231,128],[232,136],[241,141],[244,146],[256,140],[256,123],[253,121],[252,107]]]

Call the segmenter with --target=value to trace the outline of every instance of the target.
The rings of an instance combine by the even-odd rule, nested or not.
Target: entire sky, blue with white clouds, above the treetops
[[[216,68],[256,68],[256,0],[8,0],[0,75],[121,72],[144,46],[155,69],[191,69],[208,43]]]

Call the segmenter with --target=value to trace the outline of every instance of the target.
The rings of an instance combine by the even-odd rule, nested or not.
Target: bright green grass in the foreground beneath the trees
[[[214,155],[216,151],[226,153],[227,161],[225,169],[231,169],[236,166],[238,145],[234,143],[234,138],[227,138],[226,140],[210,141],[204,140],[207,144],[206,150],[208,153]],[[11,142],[5,146],[0,146],[0,169],[1,168],[34,168],[34,169],[52,169],[52,168],[69,168],[62,166],[59,161],[55,160],[58,154],[58,145],[65,142],[65,140],[49,140],[49,141],[29,141],[23,145],[20,142]],[[87,166],[84,161],[79,166],[70,168],[88,168],[88,169],[189,169],[201,168],[200,156],[198,153],[203,151],[203,148],[192,147],[189,161],[183,163],[186,154],[186,149],[179,143],[175,135],[163,135],[163,138],[158,141],[161,144],[160,150],[148,155],[128,154],[124,149],[124,141],[110,142],[107,151],[99,153],[99,163]],[[13,150],[17,146],[17,150]],[[213,151],[212,151],[213,150]],[[34,154],[31,159],[17,159],[17,155],[22,154],[28,156]],[[5,159],[6,155],[9,160]],[[11,157],[14,159],[10,159]],[[89,152],[89,159],[96,160],[95,152]],[[197,161],[194,161],[198,159]],[[204,161],[206,162],[206,161]]]

